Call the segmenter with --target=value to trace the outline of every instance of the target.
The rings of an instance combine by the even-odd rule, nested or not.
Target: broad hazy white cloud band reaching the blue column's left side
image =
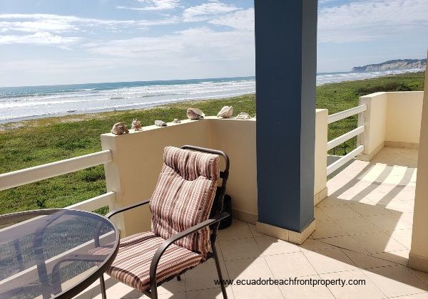
[[[195,61],[248,61],[254,58],[253,32],[219,32],[208,27],[157,37],[96,41],[85,46],[92,53],[132,58],[135,63],[142,64],[185,65]]]

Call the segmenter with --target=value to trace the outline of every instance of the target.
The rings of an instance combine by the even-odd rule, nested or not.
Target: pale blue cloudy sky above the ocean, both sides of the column
[[[318,72],[424,58],[428,0],[319,0]],[[253,0],[0,0],[0,86],[254,75]]]

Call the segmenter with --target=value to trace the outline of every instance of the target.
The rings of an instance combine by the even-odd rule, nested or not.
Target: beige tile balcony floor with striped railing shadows
[[[365,285],[228,287],[228,297],[428,298],[428,273],[407,268],[417,150],[384,147],[372,162],[355,161],[328,182],[315,207],[317,229],[302,246],[264,236],[234,220],[219,232],[225,278],[364,279]],[[223,298],[213,261],[170,281],[160,298]],[[106,276],[108,298],[146,298]],[[101,298],[98,283],[78,298]]]

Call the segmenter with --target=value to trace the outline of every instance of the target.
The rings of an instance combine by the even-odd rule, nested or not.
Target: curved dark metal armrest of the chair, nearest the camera
[[[156,250],[156,253],[153,256],[152,261],[151,261],[151,265],[150,265],[151,290],[153,290],[153,288],[156,288],[156,285],[157,285],[156,268],[158,268],[158,263],[161,260],[161,256],[172,243],[180,240],[180,238],[184,238],[185,236],[193,234],[195,231],[199,231],[200,229],[203,229],[206,226],[210,226],[212,224],[215,224],[215,223],[227,218],[228,216],[230,216],[229,213],[222,212],[218,216],[215,216],[215,218],[210,218],[208,220],[205,220],[205,221],[201,222],[200,224],[196,224],[195,226],[192,226],[188,229],[185,229],[184,231],[181,231],[180,233],[175,234],[174,236],[163,241],[161,246],[158,247],[158,250]]]

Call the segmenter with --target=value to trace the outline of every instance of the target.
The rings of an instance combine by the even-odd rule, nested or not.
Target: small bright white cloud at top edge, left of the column
[[[238,11],[238,7],[224,4],[223,2],[212,0],[198,6],[190,6],[183,11],[183,21],[197,22],[211,19],[220,14],[228,14],[232,11]]]

